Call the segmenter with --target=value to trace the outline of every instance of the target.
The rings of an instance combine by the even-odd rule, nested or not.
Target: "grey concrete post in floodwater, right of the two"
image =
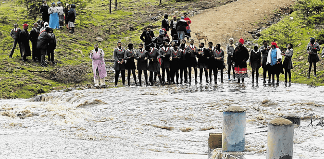
[[[294,124],[285,118],[268,123],[267,159],[293,159]]]

